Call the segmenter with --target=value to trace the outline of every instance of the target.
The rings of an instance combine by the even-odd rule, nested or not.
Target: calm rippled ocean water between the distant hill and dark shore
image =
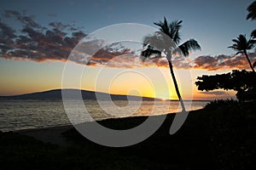
[[[185,102],[187,111],[201,109],[207,101]],[[192,105],[191,105],[192,104]],[[84,105],[95,120],[124,116],[162,115],[181,111],[177,101],[131,101],[116,100],[113,103],[86,100]],[[75,113],[80,106],[75,106]],[[3,132],[54,127],[71,124],[62,100],[2,99],[0,100],[0,130]],[[79,117],[78,117],[79,119]],[[81,120],[78,120],[78,122]],[[84,121],[82,121],[84,122]]]

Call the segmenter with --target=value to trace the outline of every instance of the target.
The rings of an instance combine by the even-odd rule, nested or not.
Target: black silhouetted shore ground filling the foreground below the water
[[[19,133],[0,134],[0,166],[8,169],[255,169],[256,103],[216,100],[191,111],[183,127],[170,135],[168,115],[151,137],[124,148],[84,139],[75,129],[63,133],[69,146],[44,144]],[[126,129],[146,117],[100,122]]]

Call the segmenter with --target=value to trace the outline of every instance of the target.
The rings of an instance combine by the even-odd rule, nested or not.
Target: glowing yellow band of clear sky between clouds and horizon
[[[50,61],[44,63],[37,63],[33,61],[13,61],[8,60],[5,65],[1,65],[0,71],[7,71],[8,74],[4,74],[0,80],[0,95],[17,95],[17,94],[30,94],[34,92],[42,92],[51,89],[61,88],[61,77],[65,62],[61,61]],[[17,66],[10,67],[9,65]],[[84,67],[84,65],[79,65],[73,63],[73,65],[78,67]],[[26,69],[24,69],[26,68]],[[177,99],[177,94],[173,88],[172,77],[170,76],[170,71],[167,68],[137,68],[135,70],[142,71],[144,74],[149,74],[154,77],[154,89],[150,87],[150,83],[146,81],[140,75],[125,73],[121,77],[117,77],[113,82],[110,83],[110,88],[108,84],[103,82],[110,81],[106,77],[112,77],[115,73],[119,71],[125,71],[125,69],[117,68],[103,68],[102,73],[98,76],[98,83],[101,86],[96,87],[95,81],[96,76],[102,68],[99,67],[86,67],[84,70],[84,76],[81,81],[81,86],[74,86],[71,84],[69,88],[97,91],[108,94],[120,94],[120,95],[138,95],[143,97],[151,97],[158,99]],[[31,71],[33,70],[33,71]],[[158,73],[152,73],[152,71],[158,71]],[[87,72],[86,72],[87,71]],[[177,70],[176,70],[177,71]],[[180,74],[184,70],[179,70]],[[181,81],[181,77],[177,76],[177,81],[179,82],[179,89],[182,94],[183,99],[194,99],[194,100],[212,100],[212,99],[227,99],[234,98],[235,92],[223,91],[223,95],[211,94],[201,94],[200,91],[195,87],[195,81],[197,76],[203,74],[211,75],[216,73],[224,73],[226,71],[205,71],[205,70],[190,70],[190,77],[192,82]],[[17,74],[19,73],[19,74]],[[86,81],[87,80],[87,81]],[[134,80],[139,80],[140,82],[134,83]],[[126,81],[126,82],[125,82]],[[132,82],[132,83],[128,83]],[[161,82],[164,82],[162,84]],[[125,86],[124,86],[125,84]],[[145,86],[146,84],[146,86]],[[192,85],[192,87],[191,87]],[[189,87],[188,87],[189,86]],[[186,90],[191,88],[191,90]],[[137,90],[135,90],[137,89]],[[192,91],[192,94],[190,94]],[[169,95],[170,94],[170,95]]]

